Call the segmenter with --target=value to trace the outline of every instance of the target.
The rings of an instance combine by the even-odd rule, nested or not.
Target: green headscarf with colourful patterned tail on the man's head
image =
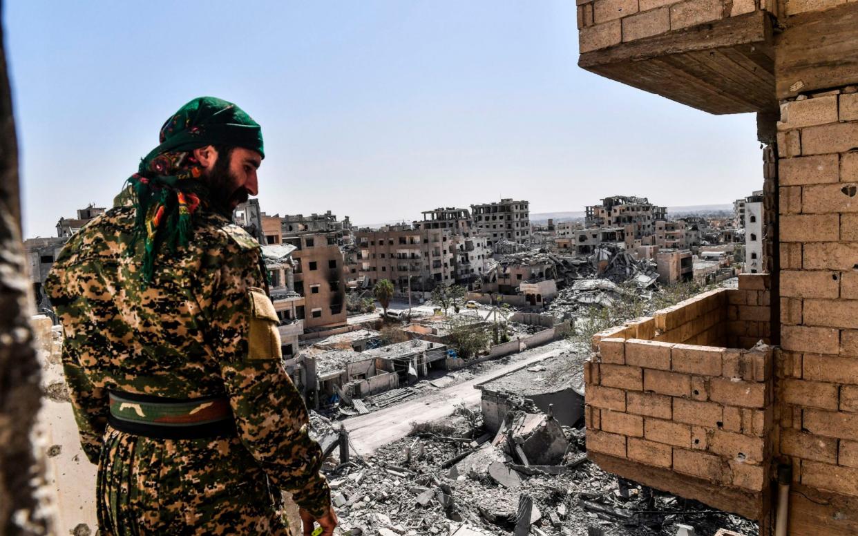
[[[160,129],[160,145],[128,179],[136,206],[136,238],[144,241],[142,278],[150,282],[161,244],[169,250],[188,244],[191,218],[208,192],[198,179],[202,166],[193,149],[207,145],[263,151],[262,129],[239,106],[199,97],[182,106]]]

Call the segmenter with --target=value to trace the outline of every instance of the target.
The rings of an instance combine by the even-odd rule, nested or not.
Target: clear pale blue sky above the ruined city
[[[762,187],[753,114],[712,116],[577,67],[575,3],[4,3],[24,236],[110,206],[158,130],[214,95],[262,124],[267,214],[421,219],[501,197],[664,206]]]

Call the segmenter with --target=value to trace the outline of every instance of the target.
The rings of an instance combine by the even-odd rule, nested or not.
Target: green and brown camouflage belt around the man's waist
[[[235,436],[226,396],[164,398],[110,392],[107,422],[118,431],[156,439],[202,439]]]

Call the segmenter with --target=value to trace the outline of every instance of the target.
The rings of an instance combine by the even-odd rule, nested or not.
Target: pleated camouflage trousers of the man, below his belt
[[[151,439],[108,426],[96,483],[102,536],[292,536],[280,492],[238,437]]]

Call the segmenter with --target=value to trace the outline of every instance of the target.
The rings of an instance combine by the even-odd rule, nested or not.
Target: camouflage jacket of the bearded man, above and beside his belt
[[[109,389],[226,395],[244,455],[249,451],[299,506],[322,515],[330,503],[322,452],[281,363],[274,308],[261,290],[259,244],[223,216],[200,211],[191,243],[160,254],[147,286],[136,276],[142,240],[132,240],[133,224],[130,207],[89,222],[45,281],[63,325],[63,370],[89,460],[99,460],[112,430]]]

